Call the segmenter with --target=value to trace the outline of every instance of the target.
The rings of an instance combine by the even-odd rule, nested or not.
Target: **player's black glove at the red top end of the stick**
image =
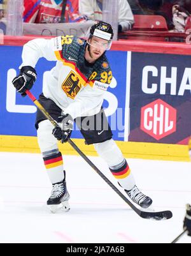
[[[32,66],[23,66],[20,70],[20,74],[13,79],[12,83],[18,93],[21,93],[21,95],[25,97],[27,95],[25,91],[31,90],[36,81],[36,77],[36,70],[32,68]]]

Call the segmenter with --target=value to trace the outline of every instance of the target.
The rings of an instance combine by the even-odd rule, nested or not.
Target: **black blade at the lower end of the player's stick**
[[[173,217],[173,213],[171,211],[159,211],[159,212],[146,212],[141,211],[142,218],[149,220],[168,220]]]

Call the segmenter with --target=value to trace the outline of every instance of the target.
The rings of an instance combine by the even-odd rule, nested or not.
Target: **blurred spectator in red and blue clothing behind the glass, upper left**
[[[24,22],[60,23],[83,20],[78,13],[79,0],[24,0]]]

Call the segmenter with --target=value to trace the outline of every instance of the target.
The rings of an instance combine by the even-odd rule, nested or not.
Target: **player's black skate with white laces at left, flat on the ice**
[[[66,181],[53,184],[52,193],[47,201],[47,205],[50,207],[52,213],[58,211],[69,211],[69,193],[66,188]]]

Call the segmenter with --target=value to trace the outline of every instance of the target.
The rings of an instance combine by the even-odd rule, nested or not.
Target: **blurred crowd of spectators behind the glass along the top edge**
[[[0,20],[5,2],[0,0]],[[134,15],[162,15],[169,30],[183,32],[191,0],[118,0],[118,31],[131,30]],[[24,0],[24,22],[60,23],[103,19],[103,0]]]

